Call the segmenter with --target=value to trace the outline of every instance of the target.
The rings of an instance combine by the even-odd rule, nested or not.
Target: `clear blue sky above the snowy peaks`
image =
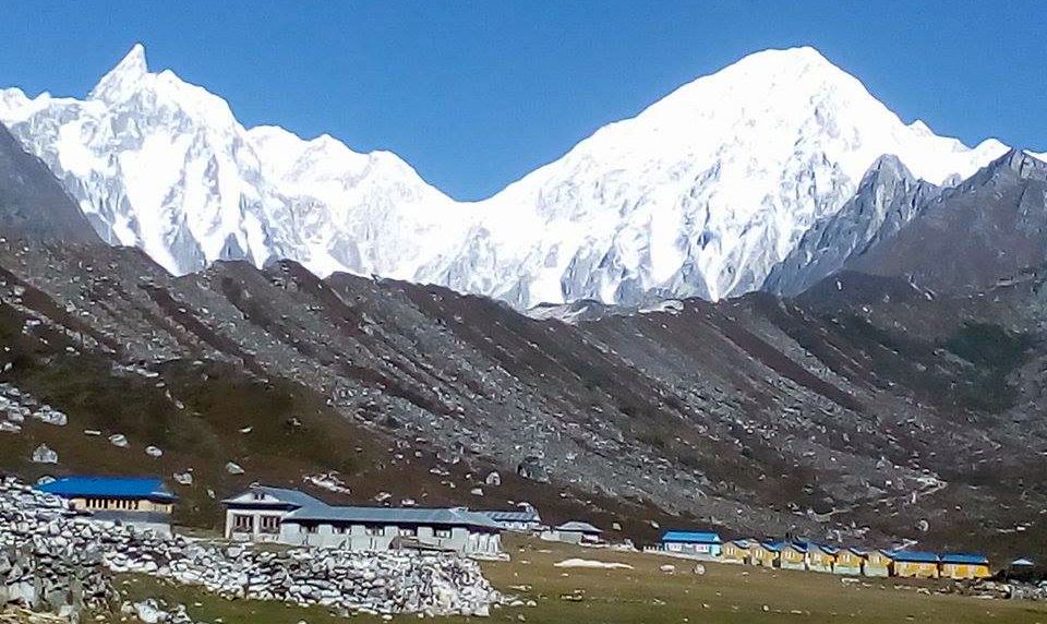
[[[796,45],[906,121],[1047,151],[1040,1],[11,2],[0,35],[2,86],[82,97],[142,41],[154,70],[221,95],[246,125],[392,149],[457,199]]]

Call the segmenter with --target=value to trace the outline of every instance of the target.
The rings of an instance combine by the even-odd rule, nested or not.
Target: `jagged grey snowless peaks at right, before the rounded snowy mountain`
[[[1010,151],[955,187],[888,158],[839,213],[815,224],[763,289],[798,295],[839,271],[928,291],[978,292],[1047,262],[1047,160]]]

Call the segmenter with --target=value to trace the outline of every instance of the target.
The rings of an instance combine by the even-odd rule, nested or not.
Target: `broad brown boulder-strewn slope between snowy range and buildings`
[[[108,245],[3,241],[0,280],[0,467],[167,475],[190,524],[264,480],[529,501],[641,539],[655,523],[994,552],[1047,536],[1038,276],[928,299],[844,274],[810,299],[576,325],[293,262],[173,277]]]

